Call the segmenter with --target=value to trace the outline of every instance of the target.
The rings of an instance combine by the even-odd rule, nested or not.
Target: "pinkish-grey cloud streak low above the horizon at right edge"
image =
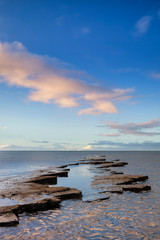
[[[102,125],[101,127],[109,127],[111,129],[117,129],[119,131],[119,134],[123,133],[123,134],[137,135],[137,136],[160,135],[160,131],[158,131],[158,132],[144,131],[146,129],[160,127],[160,119],[155,119],[155,120],[151,120],[148,122],[142,122],[142,123],[120,124],[118,122],[106,122],[106,124]]]

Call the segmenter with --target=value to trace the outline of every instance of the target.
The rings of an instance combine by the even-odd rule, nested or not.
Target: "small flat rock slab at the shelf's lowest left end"
[[[0,226],[14,226],[19,223],[18,217],[13,212],[7,212],[0,214]]]

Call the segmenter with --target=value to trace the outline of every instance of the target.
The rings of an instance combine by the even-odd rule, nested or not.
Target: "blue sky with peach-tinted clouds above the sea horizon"
[[[0,150],[160,150],[160,1],[0,0]]]

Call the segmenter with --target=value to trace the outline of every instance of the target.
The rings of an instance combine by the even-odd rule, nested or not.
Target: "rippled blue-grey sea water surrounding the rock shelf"
[[[0,179],[74,163],[90,155],[127,161],[118,171],[148,175],[146,184],[152,190],[112,194],[110,200],[98,204],[64,201],[57,210],[21,215],[17,227],[0,229],[0,239],[160,239],[160,152],[5,151],[0,152]],[[94,174],[93,166],[73,166],[69,178],[60,178],[58,185],[82,190],[82,200],[96,197],[98,192],[91,185]]]

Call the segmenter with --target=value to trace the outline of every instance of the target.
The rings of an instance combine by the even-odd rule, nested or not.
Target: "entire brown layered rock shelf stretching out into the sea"
[[[14,182],[7,190],[3,189],[0,192],[0,199],[11,199],[16,201],[17,204],[0,207],[0,226],[17,225],[21,213],[55,209],[60,207],[63,200],[81,199],[82,192],[76,188],[53,186],[57,184],[58,177],[68,177],[68,171],[70,171],[70,169],[67,169],[68,166],[79,167],[78,165],[81,164],[92,166],[95,176],[91,183],[99,193],[122,194],[124,191],[139,193],[151,190],[148,185],[138,184],[138,182],[147,180],[148,176],[129,175],[117,171],[109,172],[110,168],[123,167],[128,164],[127,162],[121,162],[119,159],[107,161],[104,156],[90,157],[80,160],[79,163],[59,166],[56,170],[40,170],[39,173],[41,174],[38,176]],[[85,202],[98,203],[109,199],[109,197],[105,196]]]

